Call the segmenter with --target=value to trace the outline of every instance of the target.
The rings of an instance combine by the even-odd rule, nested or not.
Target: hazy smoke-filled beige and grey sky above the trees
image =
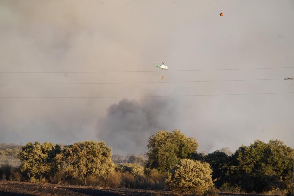
[[[220,17],[220,12],[224,13]],[[0,72],[294,67],[293,0],[0,1]],[[164,79],[161,79],[164,75]],[[294,69],[0,73],[0,83],[168,82],[294,77]],[[290,81],[287,81],[290,84]],[[131,97],[294,92],[284,80],[0,85],[0,97]],[[294,147],[294,94],[157,98],[0,98],[0,142],[105,141],[146,151],[180,129],[198,151],[259,139]]]

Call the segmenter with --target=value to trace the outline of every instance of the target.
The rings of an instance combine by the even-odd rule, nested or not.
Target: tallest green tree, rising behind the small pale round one
[[[148,140],[146,167],[167,172],[179,160],[191,158],[192,153],[196,153],[198,145],[195,139],[187,138],[180,130],[158,131]]]

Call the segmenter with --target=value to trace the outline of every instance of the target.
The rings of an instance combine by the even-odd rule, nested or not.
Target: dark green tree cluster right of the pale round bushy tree
[[[285,194],[293,187],[293,158],[293,149],[279,140],[257,140],[230,156],[221,151],[196,155],[197,160],[210,164],[220,190]]]

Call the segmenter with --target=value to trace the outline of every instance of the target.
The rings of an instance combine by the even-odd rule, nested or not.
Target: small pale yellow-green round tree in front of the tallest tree
[[[166,183],[176,194],[193,192],[202,195],[213,186],[211,173],[208,163],[182,159],[170,170]]]

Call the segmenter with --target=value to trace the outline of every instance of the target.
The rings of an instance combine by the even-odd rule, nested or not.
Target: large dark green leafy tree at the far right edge
[[[293,149],[282,141],[255,141],[241,146],[232,156],[230,184],[246,192],[291,190]]]

